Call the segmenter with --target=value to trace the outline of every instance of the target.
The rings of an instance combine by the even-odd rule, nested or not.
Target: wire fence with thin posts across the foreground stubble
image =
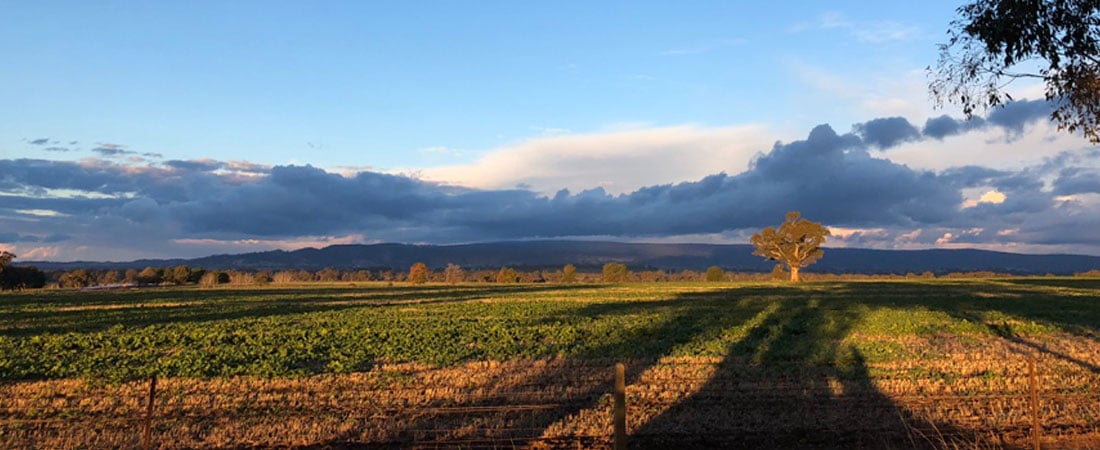
[[[15,383],[0,386],[0,447],[1100,443],[1096,371],[1042,355],[943,370],[952,363],[532,360],[297,380]]]

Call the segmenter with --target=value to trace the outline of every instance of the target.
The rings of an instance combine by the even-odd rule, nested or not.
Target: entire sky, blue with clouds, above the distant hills
[[[1041,85],[930,99],[960,4],[8,4],[0,250],[746,243],[799,210],[831,246],[1100,255],[1100,149]]]

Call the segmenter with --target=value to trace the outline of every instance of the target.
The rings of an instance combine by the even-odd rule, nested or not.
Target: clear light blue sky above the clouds
[[[741,3],[9,6],[2,144],[393,169],[620,124],[847,125],[811,78],[924,67],[955,8]]]

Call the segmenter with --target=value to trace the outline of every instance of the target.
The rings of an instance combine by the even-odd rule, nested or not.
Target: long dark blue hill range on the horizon
[[[561,267],[575,264],[592,270],[608,262],[622,262],[631,270],[704,270],[717,265],[729,271],[767,272],[774,263],[752,255],[747,244],[656,244],[588,241],[521,241],[461,245],[331,245],[323,249],[223,254],[194,260],[139,260],[106,262],[25,262],[44,270],[54,268],[142,268],[187,264],[208,270],[248,268],[382,268],[407,270],[416,262],[433,268],[449,263],[465,268]],[[1012,274],[1068,275],[1100,268],[1100,256],[1049,254],[1031,255],[985,250],[868,250],[826,249],[825,257],[807,272],[829,273],[921,273],[993,271]]]

